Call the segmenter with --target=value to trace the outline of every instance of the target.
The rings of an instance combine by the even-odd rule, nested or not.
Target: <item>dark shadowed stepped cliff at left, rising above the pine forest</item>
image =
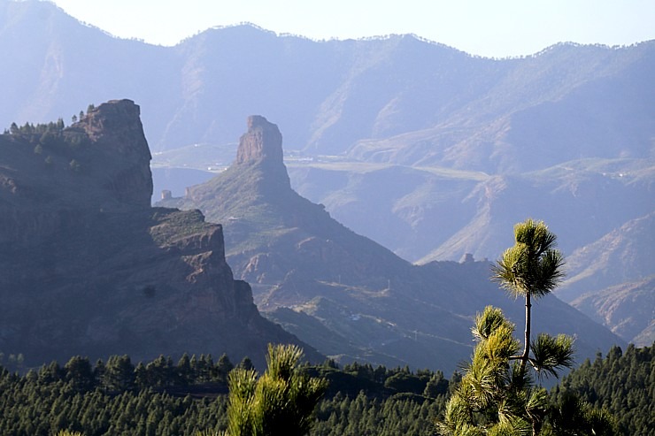
[[[233,279],[220,225],[150,208],[149,162],[128,100],[0,136],[0,350],[28,363],[227,352],[263,364],[268,342],[299,343]]]

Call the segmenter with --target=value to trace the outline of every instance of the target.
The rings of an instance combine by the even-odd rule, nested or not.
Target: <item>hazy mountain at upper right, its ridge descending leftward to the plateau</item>
[[[619,51],[559,44],[497,64],[505,73],[463,108],[421,130],[358,142],[351,157],[517,172],[581,157],[651,156],[652,42]]]

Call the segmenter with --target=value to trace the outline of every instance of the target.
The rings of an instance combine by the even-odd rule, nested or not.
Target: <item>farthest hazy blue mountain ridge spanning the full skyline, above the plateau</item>
[[[655,42],[494,60],[412,35],[313,42],[241,26],[164,48],[83,27],[53,4],[0,9],[0,49],[24,60],[0,79],[12,93],[37,90],[0,112],[7,125],[76,113],[112,92],[142,104],[154,151],[232,142],[250,113],[289,126],[289,149],[310,156],[516,172],[652,151]]]

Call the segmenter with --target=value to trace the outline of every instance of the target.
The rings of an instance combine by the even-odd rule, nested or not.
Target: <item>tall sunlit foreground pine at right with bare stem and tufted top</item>
[[[438,430],[444,436],[612,434],[605,432],[612,429],[609,417],[593,411],[579,416],[583,424],[567,426],[551,408],[546,390],[534,386],[528,369],[548,377],[573,365],[572,338],[540,333],[535,341],[530,339],[531,298],[557,287],[564,259],[554,249],[556,236],[543,222],[519,223],[514,235],[516,243],[493,268],[493,279],[525,297],[522,352],[518,354],[521,345],[513,336],[514,325],[501,310],[488,306],[479,313],[472,330],[477,342],[472,361],[446,404]]]

